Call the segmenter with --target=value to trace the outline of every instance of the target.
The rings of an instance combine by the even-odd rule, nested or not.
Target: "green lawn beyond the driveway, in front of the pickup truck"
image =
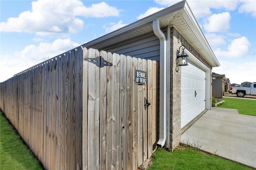
[[[256,100],[234,99],[223,97],[225,103],[218,107],[237,109],[239,114],[256,116]]]

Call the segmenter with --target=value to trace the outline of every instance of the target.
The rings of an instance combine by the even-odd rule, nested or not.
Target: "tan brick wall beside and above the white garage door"
[[[208,68],[212,67],[173,27],[170,28],[170,43],[170,150],[174,150],[180,143],[181,135],[181,66],[176,66],[176,51],[184,45]]]

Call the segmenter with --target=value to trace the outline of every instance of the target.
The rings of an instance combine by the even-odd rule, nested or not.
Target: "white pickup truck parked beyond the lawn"
[[[245,95],[256,95],[256,83],[252,83],[250,87],[230,87],[230,92],[237,95],[237,97],[244,97]]]

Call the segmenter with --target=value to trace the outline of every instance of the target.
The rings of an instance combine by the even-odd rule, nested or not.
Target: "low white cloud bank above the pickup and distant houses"
[[[256,75],[252,74],[256,72],[256,61],[247,63],[220,61],[220,67],[214,67],[212,71],[218,74],[225,74],[231,83],[256,82]]]

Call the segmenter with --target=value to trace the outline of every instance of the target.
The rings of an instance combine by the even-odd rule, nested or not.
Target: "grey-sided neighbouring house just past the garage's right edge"
[[[215,73],[216,79],[212,80],[212,97],[222,98],[225,93],[225,81],[224,74]]]

